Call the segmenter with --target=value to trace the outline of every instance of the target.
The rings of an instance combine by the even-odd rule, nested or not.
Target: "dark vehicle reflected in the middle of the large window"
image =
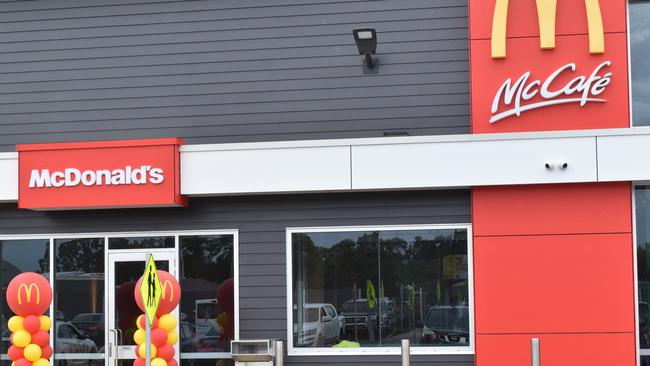
[[[368,324],[372,324],[372,331],[379,336],[391,334],[396,321],[395,304],[388,298],[377,300],[372,307],[368,306],[367,299],[347,300],[341,305],[341,314],[345,322],[345,334],[354,338],[355,334],[368,332]]]

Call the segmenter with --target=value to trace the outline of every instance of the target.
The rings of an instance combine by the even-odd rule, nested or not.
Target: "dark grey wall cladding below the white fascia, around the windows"
[[[238,229],[240,335],[286,339],[286,228],[470,222],[467,190],[195,198],[188,208],[33,212],[0,205],[0,234]],[[296,365],[396,365],[396,356],[290,357]],[[472,355],[414,363],[466,366]]]

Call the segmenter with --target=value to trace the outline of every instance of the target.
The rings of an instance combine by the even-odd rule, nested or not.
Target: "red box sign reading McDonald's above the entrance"
[[[183,206],[180,139],[18,145],[20,208]]]

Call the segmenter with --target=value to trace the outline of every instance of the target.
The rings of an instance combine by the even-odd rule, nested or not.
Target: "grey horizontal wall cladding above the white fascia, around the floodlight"
[[[0,151],[468,133],[467,27],[467,0],[0,0]]]

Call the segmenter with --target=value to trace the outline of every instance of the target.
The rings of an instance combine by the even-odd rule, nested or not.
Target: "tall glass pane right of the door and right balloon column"
[[[235,323],[233,236],[181,236],[179,246],[181,352],[229,352]]]

